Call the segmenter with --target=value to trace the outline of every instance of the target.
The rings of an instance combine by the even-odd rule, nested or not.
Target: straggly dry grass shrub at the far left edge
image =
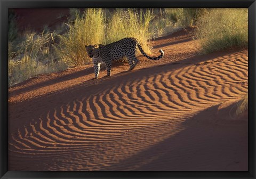
[[[12,43],[9,43],[9,86],[38,74],[51,73],[67,68],[61,61],[56,61],[56,55],[51,51],[54,36],[50,32],[42,32],[41,34],[26,32],[19,40],[16,47],[18,51],[16,52],[12,52]]]

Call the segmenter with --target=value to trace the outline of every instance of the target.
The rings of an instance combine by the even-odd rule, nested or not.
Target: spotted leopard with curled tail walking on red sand
[[[147,55],[145,51],[143,51],[140,43],[138,42],[138,39],[134,37],[126,37],[107,45],[85,45],[87,54],[90,58],[92,58],[95,74],[94,79],[99,78],[101,63],[105,63],[107,69],[107,76],[111,76],[112,62],[122,59],[125,56],[130,65],[129,70],[133,70],[139,62],[138,58],[135,56],[137,47],[139,48],[143,56],[146,56],[146,58],[150,60],[159,60],[164,56],[164,51],[162,49],[159,50],[159,52],[161,53],[159,56]]]

